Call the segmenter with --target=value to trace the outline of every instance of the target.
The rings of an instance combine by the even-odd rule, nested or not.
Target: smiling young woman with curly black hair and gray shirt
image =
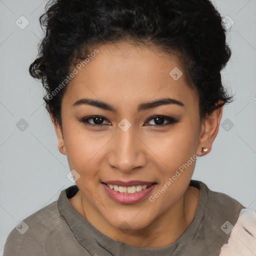
[[[55,0],[40,22],[29,71],[75,185],[21,221],[4,255],[234,255],[244,206],[191,180],[232,101],[213,4]],[[253,239],[245,224],[238,234]]]

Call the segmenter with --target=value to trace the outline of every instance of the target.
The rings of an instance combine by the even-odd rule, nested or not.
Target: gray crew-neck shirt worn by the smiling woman
[[[69,203],[67,198],[78,191],[73,185],[61,190],[57,201],[11,230],[3,256],[217,256],[229,238],[228,228],[245,207],[224,193],[210,190],[201,181],[191,180],[189,185],[200,190],[195,217],[186,231],[166,247],[137,248],[101,233]]]

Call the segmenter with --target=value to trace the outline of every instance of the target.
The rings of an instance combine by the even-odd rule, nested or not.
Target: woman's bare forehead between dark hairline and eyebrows
[[[86,64],[79,69],[75,66],[78,72],[69,82],[63,101],[72,104],[84,96],[127,108],[131,102],[137,106],[142,101],[171,97],[185,107],[198,104],[176,56],[127,42],[102,44],[96,49],[98,53],[87,58]]]

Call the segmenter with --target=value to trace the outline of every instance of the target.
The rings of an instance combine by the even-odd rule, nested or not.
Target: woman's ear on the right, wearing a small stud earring
[[[223,101],[221,101],[223,102]],[[218,102],[221,103],[221,102]],[[197,150],[201,152],[201,148],[207,148],[206,152],[201,152],[200,156],[210,152],[212,143],[218,133],[219,123],[222,117],[223,106],[214,110],[212,114],[205,117],[201,123],[201,134],[198,142]]]

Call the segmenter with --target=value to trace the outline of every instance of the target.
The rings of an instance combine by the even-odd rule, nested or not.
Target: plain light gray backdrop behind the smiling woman
[[[222,78],[235,101],[224,107],[221,119],[234,126],[220,127],[211,152],[197,159],[192,178],[256,209],[256,0],[214,2],[234,21],[227,35],[232,57]],[[28,73],[42,36],[38,18],[45,3],[0,0],[0,255],[12,228],[73,184],[42,105],[42,86]],[[15,24],[21,15],[29,21],[24,29]],[[23,131],[16,126],[21,118],[28,123]]]

